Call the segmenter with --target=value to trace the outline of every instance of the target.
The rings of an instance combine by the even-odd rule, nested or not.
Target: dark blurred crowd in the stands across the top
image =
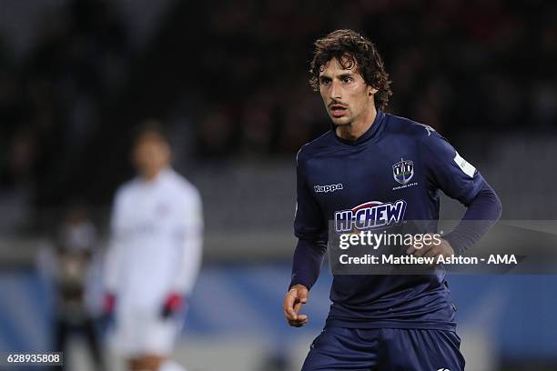
[[[555,131],[555,19],[557,4],[544,0],[175,2],[137,53],[110,2],[69,1],[43,16],[24,60],[0,35],[0,205],[53,206],[87,192],[108,203],[111,192],[91,185],[121,181],[122,134],[154,111],[146,105],[188,136],[177,153],[197,167],[293,157],[328,128],[307,71],[313,41],[336,28],[376,43],[395,115],[443,134]],[[146,60],[148,70],[137,68]],[[177,83],[148,91],[165,74]],[[143,100],[119,105],[143,87]],[[15,214],[2,228],[25,219]]]

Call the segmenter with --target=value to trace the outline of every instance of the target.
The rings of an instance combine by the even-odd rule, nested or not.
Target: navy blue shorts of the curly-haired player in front
[[[325,326],[302,371],[461,371],[460,346],[449,330]]]

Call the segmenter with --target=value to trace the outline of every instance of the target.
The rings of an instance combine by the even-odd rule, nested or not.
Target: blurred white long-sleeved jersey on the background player
[[[116,294],[116,312],[155,315],[169,293],[189,295],[201,261],[202,228],[197,188],[174,170],[121,186],[106,261],[106,289]]]

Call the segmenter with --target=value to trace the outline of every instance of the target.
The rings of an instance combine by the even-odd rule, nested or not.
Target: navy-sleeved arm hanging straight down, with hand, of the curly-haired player
[[[327,251],[327,225],[323,213],[308,184],[302,151],[297,156],[297,203],[294,234],[298,245],[292,259],[292,278],[284,298],[283,312],[290,326],[304,326],[308,316],[300,315],[301,306],[308,302],[309,290],[319,277]]]

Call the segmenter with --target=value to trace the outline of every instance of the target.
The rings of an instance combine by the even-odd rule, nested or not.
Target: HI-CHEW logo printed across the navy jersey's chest
[[[338,233],[352,232],[354,228],[365,231],[383,226],[399,225],[404,220],[406,201],[394,203],[366,202],[352,208],[335,212],[335,230]]]

